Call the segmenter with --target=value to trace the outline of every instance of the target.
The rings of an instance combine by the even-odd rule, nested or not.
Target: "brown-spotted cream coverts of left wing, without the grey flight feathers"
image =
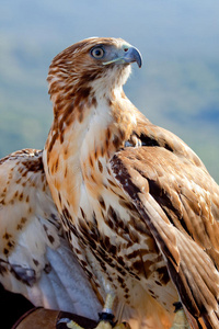
[[[1,274],[32,286],[48,270],[46,248],[59,246],[58,213],[42,151],[25,149],[1,160],[0,197]]]

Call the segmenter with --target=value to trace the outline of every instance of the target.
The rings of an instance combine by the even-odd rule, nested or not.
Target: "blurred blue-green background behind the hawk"
[[[43,148],[55,55],[89,36],[138,47],[125,91],[154,124],[184,139],[219,182],[218,0],[1,0],[0,157]]]

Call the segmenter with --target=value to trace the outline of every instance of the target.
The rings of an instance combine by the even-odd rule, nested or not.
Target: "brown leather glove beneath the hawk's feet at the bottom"
[[[67,329],[66,324],[57,324],[61,318],[69,318],[84,329],[93,329],[97,322],[71,313],[35,307],[25,313],[12,329]]]

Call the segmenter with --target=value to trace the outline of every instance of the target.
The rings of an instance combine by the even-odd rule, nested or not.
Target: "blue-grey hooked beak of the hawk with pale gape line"
[[[116,57],[112,60],[103,63],[103,65],[108,65],[112,63],[118,63],[118,64],[130,64],[130,63],[137,63],[138,67],[140,68],[142,65],[142,57],[140,52],[132,47],[132,46],[126,46],[123,49],[123,55],[119,57]]]

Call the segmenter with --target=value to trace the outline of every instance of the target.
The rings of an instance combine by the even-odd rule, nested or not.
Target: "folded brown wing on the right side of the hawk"
[[[127,148],[111,164],[166,260],[191,326],[219,328],[218,185],[205,168],[160,147]]]

